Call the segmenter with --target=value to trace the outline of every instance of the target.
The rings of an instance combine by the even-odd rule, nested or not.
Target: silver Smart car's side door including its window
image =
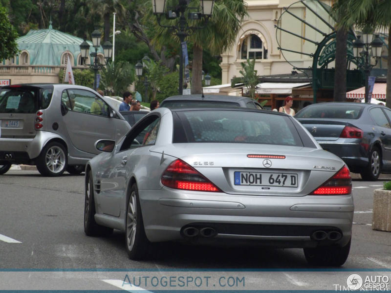
[[[95,93],[84,89],[67,89],[63,91],[62,102],[63,121],[75,148],[99,154],[94,147],[95,141],[116,140],[114,118],[109,117],[108,105]]]

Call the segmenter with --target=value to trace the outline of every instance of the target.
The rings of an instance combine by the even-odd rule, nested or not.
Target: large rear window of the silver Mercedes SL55
[[[187,142],[303,146],[288,116],[250,111],[203,110],[178,113]],[[183,142],[183,138],[174,143]]]

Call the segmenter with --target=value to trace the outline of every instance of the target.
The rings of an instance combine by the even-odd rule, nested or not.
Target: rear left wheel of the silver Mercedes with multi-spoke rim
[[[125,242],[129,259],[145,258],[149,250],[149,240],[145,235],[137,184],[132,185],[127,202]]]

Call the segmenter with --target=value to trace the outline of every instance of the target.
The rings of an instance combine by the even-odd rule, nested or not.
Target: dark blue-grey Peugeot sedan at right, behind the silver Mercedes
[[[391,172],[391,110],[374,104],[320,103],[295,118],[323,149],[341,157],[351,172],[377,180]],[[323,166],[319,166],[323,168]]]

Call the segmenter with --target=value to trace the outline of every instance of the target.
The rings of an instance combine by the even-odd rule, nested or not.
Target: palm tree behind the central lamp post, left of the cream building
[[[193,2],[190,2],[189,7],[194,7],[199,3],[199,1]],[[247,15],[247,4],[243,0],[221,0],[215,2],[212,17],[207,22],[187,20],[191,27],[202,27],[187,36],[187,41],[193,43],[192,93],[202,91],[203,49],[207,49],[212,55],[220,55],[224,50],[230,49],[236,39],[240,24]],[[169,29],[160,27],[152,13],[146,14],[144,19],[145,21],[152,19],[152,26],[156,31],[153,41],[158,48],[161,48],[170,38],[174,38],[179,43],[178,36],[173,36]],[[175,25],[176,20],[164,20],[162,23]]]

